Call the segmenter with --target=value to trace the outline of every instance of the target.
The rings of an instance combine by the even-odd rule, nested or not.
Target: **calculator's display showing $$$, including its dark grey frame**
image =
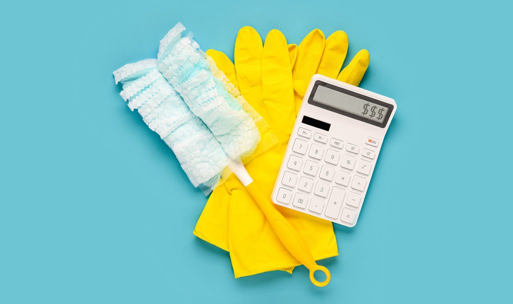
[[[308,100],[310,104],[384,128],[392,105],[318,81]]]

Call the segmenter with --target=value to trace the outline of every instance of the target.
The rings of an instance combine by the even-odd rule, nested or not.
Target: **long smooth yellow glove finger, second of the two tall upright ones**
[[[280,139],[288,138],[294,124],[294,85],[285,36],[271,30],[262,53],[262,92],[272,129]]]

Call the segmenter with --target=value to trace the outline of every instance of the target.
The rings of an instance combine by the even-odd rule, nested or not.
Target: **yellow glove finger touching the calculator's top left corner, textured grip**
[[[311,31],[298,46],[298,57],[295,60],[292,77],[294,90],[304,96],[310,78],[317,72],[324,51],[325,39],[321,30]]]

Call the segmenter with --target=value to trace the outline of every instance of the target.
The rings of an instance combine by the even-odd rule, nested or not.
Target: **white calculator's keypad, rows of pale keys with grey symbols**
[[[371,146],[379,141],[362,138],[367,145],[360,147],[302,127],[291,140],[276,200],[352,225],[376,158]]]

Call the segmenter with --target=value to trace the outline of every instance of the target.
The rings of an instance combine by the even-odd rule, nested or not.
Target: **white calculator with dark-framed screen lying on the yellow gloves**
[[[314,75],[272,191],[274,204],[356,225],[396,102]]]

